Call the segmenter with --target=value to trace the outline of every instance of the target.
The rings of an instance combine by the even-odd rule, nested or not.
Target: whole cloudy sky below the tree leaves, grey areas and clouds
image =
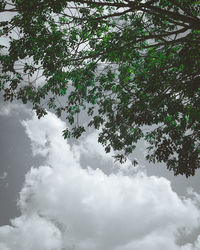
[[[96,131],[64,140],[64,120],[21,104],[0,126],[1,250],[200,249],[199,173],[148,165],[142,144],[137,168],[116,164]]]

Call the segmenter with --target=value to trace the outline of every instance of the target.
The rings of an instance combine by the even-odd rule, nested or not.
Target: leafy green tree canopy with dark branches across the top
[[[200,167],[199,3],[3,0],[0,12],[15,14],[0,23],[1,36],[10,39],[0,48],[4,100],[32,103],[39,118],[45,104],[66,114],[72,127],[65,138],[101,128],[99,142],[106,152],[119,152],[121,162],[145,138],[149,161],[194,175]],[[87,125],[78,122],[82,110]]]

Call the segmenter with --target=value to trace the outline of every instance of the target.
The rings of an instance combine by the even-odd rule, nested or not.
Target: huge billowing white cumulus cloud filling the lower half
[[[34,115],[23,126],[34,155],[45,161],[26,175],[22,215],[0,228],[0,249],[199,249],[199,238],[194,245],[177,244],[178,230],[190,233],[199,226],[196,196],[180,198],[166,178],[143,172],[106,175],[91,166],[83,169],[81,154],[96,155],[97,166],[110,156],[94,134],[70,146],[61,133],[66,124],[52,113],[40,120]]]

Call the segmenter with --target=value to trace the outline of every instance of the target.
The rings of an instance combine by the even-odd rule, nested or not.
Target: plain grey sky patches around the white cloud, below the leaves
[[[0,180],[0,225],[8,224],[11,218],[19,215],[16,200],[22,188],[25,174],[31,166],[39,166],[43,159],[39,156],[33,157],[30,140],[21,125],[21,121],[29,117],[30,114],[24,110],[20,111],[20,109],[14,110],[10,115],[0,115],[0,176],[3,176],[4,172],[7,173],[7,177]],[[147,175],[163,176],[169,179],[173,190],[179,195],[184,195],[188,187],[199,192],[200,171],[197,170],[195,176],[186,178],[185,176],[174,176],[173,172],[168,171],[164,164],[149,164],[144,159],[144,144],[142,142],[138,144],[134,157],[145,166]],[[116,171],[111,162],[108,162],[106,166],[101,161],[96,164],[97,159],[94,156],[83,155],[80,163],[83,168],[90,163],[91,167],[100,168],[105,173]]]

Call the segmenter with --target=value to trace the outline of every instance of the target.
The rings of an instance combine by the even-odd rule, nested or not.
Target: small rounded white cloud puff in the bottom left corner
[[[57,250],[61,249],[61,234],[49,220],[32,214],[0,227],[1,250]]]

